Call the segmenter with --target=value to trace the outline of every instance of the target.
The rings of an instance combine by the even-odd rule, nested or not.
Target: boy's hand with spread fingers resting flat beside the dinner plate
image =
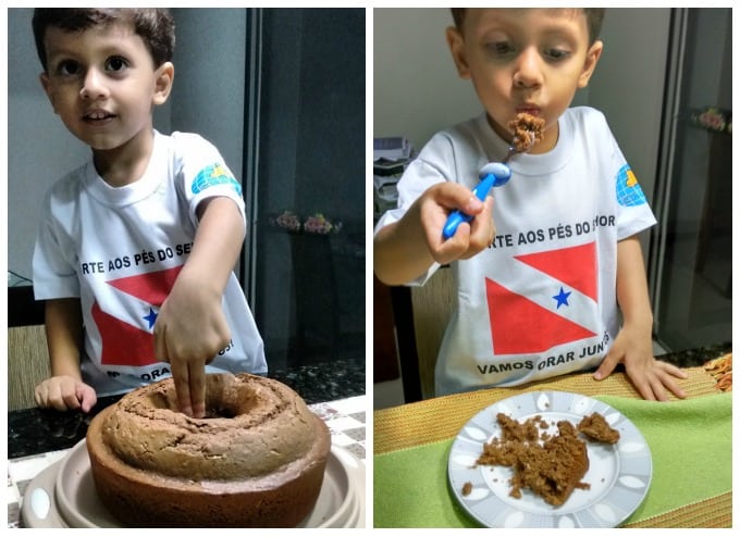
[[[676,379],[687,378],[687,373],[670,363],[655,360],[650,336],[637,336],[628,328],[622,328],[594,373],[594,378],[606,378],[620,362],[625,364],[627,376],[644,399],[667,401],[666,389],[680,399],[686,397],[686,391]]]

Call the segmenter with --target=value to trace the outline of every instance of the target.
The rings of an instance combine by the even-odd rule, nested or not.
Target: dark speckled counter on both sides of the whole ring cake
[[[332,360],[268,373],[297,391],[308,404],[365,395],[365,362]],[[98,399],[92,410],[58,412],[24,409],[8,413],[8,459],[74,447],[87,433],[90,420],[122,396]]]

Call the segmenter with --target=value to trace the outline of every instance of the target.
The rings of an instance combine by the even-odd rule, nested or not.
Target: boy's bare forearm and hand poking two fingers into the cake
[[[244,241],[244,220],[225,197],[198,205],[193,250],[155,325],[157,359],[170,362],[180,410],[206,413],[206,363],[229,345],[222,297]]]

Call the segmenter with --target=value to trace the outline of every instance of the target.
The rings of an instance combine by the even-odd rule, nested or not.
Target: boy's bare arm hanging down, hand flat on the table
[[[622,327],[594,377],[597,380],[605,378],[617,363],[624,362],[627,376],[644,399],[665,401],[666,389],[679,398],[686,397],[676,379],[686,378],[687,374],[653,357],[653,313],[637,236],[617,243],[617,302]]]

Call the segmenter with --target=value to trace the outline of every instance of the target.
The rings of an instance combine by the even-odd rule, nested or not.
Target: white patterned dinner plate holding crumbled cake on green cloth
[[[599,412],[620,438],[615,445],[587,441],[589,471],[582,482],[591,488],[577,488],[563,505],[551,505],[527,488],[517,499],[509,496],[511,469],[476,465],[483,444],[501,437],[499,412],[518,422],[541,415],[548,424],[567,420],[574,425]],[[555,425],[548,433],[557,433]],[[632,422],[606,403],[565,391],[521,394],[479,412],[455,438],[447,465],[457,501],[488,527],[616,527],[642,503],[652,473],[650,448]],[[472,490],[462,496],[466,483]]]

